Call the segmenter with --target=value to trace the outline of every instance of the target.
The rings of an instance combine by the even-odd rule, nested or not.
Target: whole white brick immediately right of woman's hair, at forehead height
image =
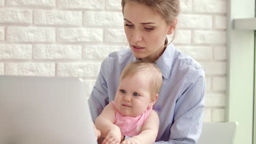
[[[211,15],[181,14],[178,19],[180,28],[212,28]]]

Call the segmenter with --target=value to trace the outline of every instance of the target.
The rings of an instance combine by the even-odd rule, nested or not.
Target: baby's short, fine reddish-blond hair
[[[127,76],[133,76],[142,73],[148,76],[150,80],[150,89],[152,94],[159,93],[162,87],[162,73],[154,63],[136,61],[132,62],[124,68],[121,73],[120,80]]]

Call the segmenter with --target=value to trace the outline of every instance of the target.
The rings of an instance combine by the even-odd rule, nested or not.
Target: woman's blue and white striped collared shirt
[[[114,100],[121,71],[136,61],[130,49],[110,53],[89,98],[93,121],[104,107]],[[205,99],[205,73],[193,58],[178,51],[173,44],[155,61],[163,77],[159,99],[153,109],[159,109],[159,133],[155,144],[192,144],[201,135]]]

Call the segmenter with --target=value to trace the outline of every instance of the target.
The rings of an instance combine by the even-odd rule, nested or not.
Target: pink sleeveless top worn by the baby
[[[114,101],[110,101],[110,103],[114,104]],[[146,110],[144,113],[137,117],[130,117],[121,115],[121,113],[117,109],[115,109],[114,124],[120,128],[121,134],[124,136],[132,137],[138,135],[139,133],[141,133],[142,125],[146,121],[151,110],[152,107],[150,107],[148,110]]]

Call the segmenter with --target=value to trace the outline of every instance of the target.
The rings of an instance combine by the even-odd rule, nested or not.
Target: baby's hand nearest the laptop
[[[116,144],[121,141],[121,131],[120,130],[109,130],[102,144]]]

